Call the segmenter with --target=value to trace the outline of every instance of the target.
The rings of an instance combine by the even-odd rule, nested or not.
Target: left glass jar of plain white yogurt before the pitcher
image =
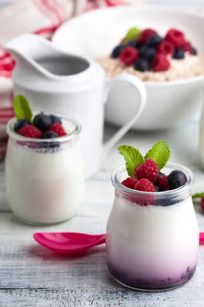
[[[62,118],[67,135],[31,139],[15,133],[16,119],[7,124],[6,191],[13,213],[23,223],[50,225],[69,220],[84,194],[81,126]]]

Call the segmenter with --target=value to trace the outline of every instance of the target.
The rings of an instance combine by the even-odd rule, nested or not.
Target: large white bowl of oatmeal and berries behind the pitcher
[[[130,41],[123,41],[127,30],[134,26],[139,29],[134,28],[130,32],[133,37],[129,33]],[[142,81],[146,105],[132,129],[164,130],[200,112],[204,98],[203,28],[204,17],[184,9],[121,6],[88,12],[71,19],[56,31],[53,41],[62,51],[100,63],[109,87],[115,78],[124,74],[132,85]],[[139,46],[138,37],[142,32],[144,41],[140,41]],[[153,46],[152,39],[156,39]],[[117,46],[122,46],[119,47],[119,53],[123,51],[122,61],[117,53],[112,55],[113,51],[118,52],[115,50]],[[124,54],[124,47],[133,47],[131,63],[126,62],[129,61],[130,50]],[[156,63],[152,63],[152,56],[156,57]],[[140,97],[132,85],[120,82],[111,87],[105,104],[107,122],[122,126],[138,109]]]

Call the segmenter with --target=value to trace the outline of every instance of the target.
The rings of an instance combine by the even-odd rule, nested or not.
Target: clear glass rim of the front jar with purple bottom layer
[[[125,164],[120,165],[112,172],[111,182],[115,188],[120,189],[123,192],[132,193],[132,194],[134,193],[134,194],[141,195],[141,196],[142,195],[155,195],[157,196],[157,198],[167,198],[168,196],[169,197],[179,196],[192,188],[194,184],[194,174],[188,167],[180,165],[180,164],[172,163],[172,162],[168,162],[165,165],[165,167],[170,167],[172,168],[172,170],[179,169],[183,171],[187,176],[187,182],[185,183],[185,185],[183,185],[180,188],[174,189],[174,190],[163,191],[163,192],[144,192],[144,191],[138,191],[138,190],[127,188],[123,186],[118,179],[119,174],[123,171],[126,171]]]

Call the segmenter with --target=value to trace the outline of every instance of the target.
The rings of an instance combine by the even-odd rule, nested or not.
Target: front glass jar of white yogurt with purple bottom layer
[[[126,287],[141,291],[181,286],[195,273],[199,229],[191,198],[193,173],[168,163],[165,174],[183,171],[187,183],[164,192],[126,188],[125,166],[112,174],[115,199],[107,224],[108,269]]]

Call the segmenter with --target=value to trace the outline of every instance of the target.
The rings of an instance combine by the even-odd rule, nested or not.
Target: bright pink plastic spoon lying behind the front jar
[[[77,232],[34,233],[34,239],[42,246],[57,253],[82,253],[89,248],[106,242],[106,235],[92,235]],[[200,232],[199,243],[204,244],[204,232]]]

